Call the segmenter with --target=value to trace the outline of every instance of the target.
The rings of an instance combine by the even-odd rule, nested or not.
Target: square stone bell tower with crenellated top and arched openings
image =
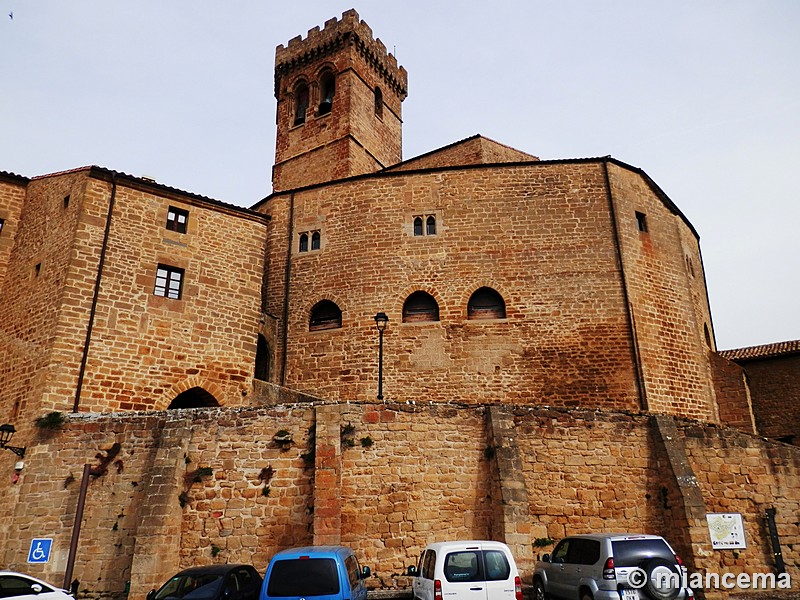
[[[274,191],[400,162],[407,81],[355,10],[278,46]]]

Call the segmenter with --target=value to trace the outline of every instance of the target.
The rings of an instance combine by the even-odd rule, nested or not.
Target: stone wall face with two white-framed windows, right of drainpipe
[[[166,228],[170,207],[186,233]],[[194,387],[248,404],[265,238],[260,217],[118,186],[81,410],[163,410]],[[159,265],[183,269],[180,299],[153,293]]]

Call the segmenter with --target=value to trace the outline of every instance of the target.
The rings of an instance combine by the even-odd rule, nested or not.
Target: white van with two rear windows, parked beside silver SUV
[[[517,565],[501,542],[429,544],[408,575],[413,600],[522,600]]]

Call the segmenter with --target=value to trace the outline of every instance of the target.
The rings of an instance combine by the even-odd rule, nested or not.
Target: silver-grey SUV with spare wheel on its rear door
[[[634,533],[574,535],[533,573],[535,600],[688,600],[685,567],[666,540]]]

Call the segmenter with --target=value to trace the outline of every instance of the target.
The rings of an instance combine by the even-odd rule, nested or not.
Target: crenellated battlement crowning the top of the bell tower
[[[373,38],[372,29],[360,20],[358,13],[350,9],[308,30],[305,39],[296,36],[289,40],[288,46],[279,44],[275,49],[275,97],[278,97],[278,80],[308,61],[334,52],[343,44],[352,41],[359,53],[375,71],[386,81],[395,93],[404,100],[408,95],[408,73],[398,66],[397,59],[386,51],[386,46],[378,38]]]

